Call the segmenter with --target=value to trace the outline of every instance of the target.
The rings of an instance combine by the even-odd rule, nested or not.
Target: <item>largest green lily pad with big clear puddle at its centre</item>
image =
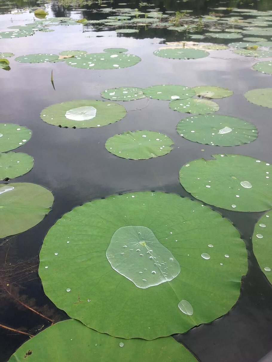
[[[107,258],[113,242],[124,253],[123,270]],[[163,282],[168,270],[177,274],[176,263],[180,273]],[[137,286],[131,268],[135,281],[141,274],[148,284],[160,274],[162,282]],[[94,200],[63,215],[45,237],[39,266],[45,294],[70,317],[101,333],[147,340],[229,311],[246,272],[244,242],[226,218],[189,198],[149,191]]]

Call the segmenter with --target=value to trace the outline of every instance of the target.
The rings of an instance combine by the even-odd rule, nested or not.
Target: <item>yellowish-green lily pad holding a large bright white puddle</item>
[[[86,99],[53,104],[41,111],[41,118],[50,125],[89,128],[120,121],[126,113],[118,103]]]

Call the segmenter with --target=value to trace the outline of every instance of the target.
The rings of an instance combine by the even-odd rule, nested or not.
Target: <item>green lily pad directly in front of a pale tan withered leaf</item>
[[[155,50],[154,55],[170,59],[198,59],[205,58],[209,52],[200,49],[190,48],[164,48]]]

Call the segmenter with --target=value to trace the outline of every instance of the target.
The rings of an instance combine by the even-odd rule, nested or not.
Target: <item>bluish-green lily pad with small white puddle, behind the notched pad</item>
[[[219,114],[181,119],[177,124],[177,131],[190,141],[213,146],[238,146],[258,137],[258,130],[252,123]]]

